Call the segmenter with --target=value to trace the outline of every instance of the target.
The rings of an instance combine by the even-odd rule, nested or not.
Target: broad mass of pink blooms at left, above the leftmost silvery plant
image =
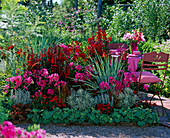
[[[34,70],[33,72],[25,71],[23,74],[23,77],[21,75],[13,76],[11,78],[8,78],[8,82],[15,83],[14,89],[17,88],[25,88],[28,90],[28,86],[30,86],[31,83],[33,83],[34,78],[34,84],[38,85],[38,90],[36,89],[35,95],[42,94],[42,92],[45,90],[47,94],[53,94],[54,91],[52,89],[44,89],[45,87],[65,87],[66,82],[59,81],[59,75],[54,73],[49,75],[49,72],[47,69],[43,68],[41,70]],[[36,79],[35,79],[36,78]],[[23,87],[22,87],[23,86]],[[10,88],[10,84],[7,84],[4,86],[4,90],[7,93],[8,89]]]

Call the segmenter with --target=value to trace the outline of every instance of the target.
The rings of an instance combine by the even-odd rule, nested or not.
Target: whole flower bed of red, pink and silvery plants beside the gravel
[[[49,44],[40,53],[27,49],[23,73],[17,69],[4,86],[3,96],[10,100],[3,105],[11,119],[40,124],[157,124],[152,104],[142,101],[136,90],[137,77],[127,72],[127,53],[120,49],[120,60],[112,59],[107,51],[111,37],[99,26],[96,34],[84,50],[78,41]]]

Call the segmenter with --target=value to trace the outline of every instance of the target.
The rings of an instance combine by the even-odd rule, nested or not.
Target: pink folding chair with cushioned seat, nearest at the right
[[[164,85],[167,66],[168,66],[168,59],[169,59],[169,54],[166,54],[164,52],[160,52],[160,53],[156,53],[156,52],[144,53],[143,54],[141,71],[136,72],[136,75],[139,76],[138,84],[150,83],[151,85],[153,85],[153,84],[161,82],[161,88],[160,88],[159,91],[157,91],[155,89],[154,85],[153,85],[155,93],[151,97],[150,102],[152,101],[152,99],[153,99],[153,97],[155,95],[158,95],[158,97],[159,97],[159,99],[161,101],[161,104],[162,104],[163,114],[164,114],[163,102],[162,102],[161,97],[159,96],[159,93],[162,91],[162,88],[163,88],[163,85]],[[148,64],[148,62],[151,63],[151,64]],[[154,62],[154,64],[152,64],[153,62]],[[151,68],[149,68],[149,67],[151,67]],[[143,70],[146,70],[146,71],[143,71]],[[157,76],[155,76],[151,72],[149,72],[151,70],[164,70],[163,80],[159,79]]]

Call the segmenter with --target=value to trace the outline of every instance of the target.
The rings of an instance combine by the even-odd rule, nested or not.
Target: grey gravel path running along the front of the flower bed
[[[29,124],[18,124],[27,128]],[[46,138],[170,138],[170,129],[162,126],[139,128],[136,126],[63,126],[41,125],[46,130]]]

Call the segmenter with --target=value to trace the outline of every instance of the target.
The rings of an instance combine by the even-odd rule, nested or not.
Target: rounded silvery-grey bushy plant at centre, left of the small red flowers
[[[77,92],[72,92],[67,98],[67,101],[71,108],[76,108],[81,111],[95,106],[94,98],[90,93],[83,89],[79,89]]]

